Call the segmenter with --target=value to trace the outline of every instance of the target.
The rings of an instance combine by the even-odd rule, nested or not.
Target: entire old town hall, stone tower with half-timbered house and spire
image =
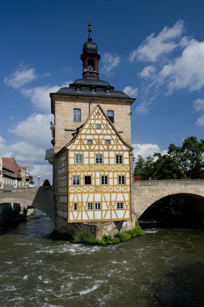
[[[83,45],[83,78],[51,93],[57,228],[132,220],[131,104],[99,79],[98,46]]]

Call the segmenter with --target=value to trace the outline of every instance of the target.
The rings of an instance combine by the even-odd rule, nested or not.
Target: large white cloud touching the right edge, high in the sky
[[[187,89],[189,92],[198,91],[204,85],[204,41],[195,39],[182,52],[181,57],[173,63],[164,65],[160,72],[168,86],[168,93],[175,90]]]

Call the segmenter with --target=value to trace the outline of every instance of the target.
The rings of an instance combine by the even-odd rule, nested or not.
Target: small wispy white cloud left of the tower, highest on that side
[[[12,86],[14,89],[19,89],[23,85],[31,83],[33,80],[41,76],[36,74],[34,68],[29,69],[28,65],[23,65],[22,62],[19,66],[19,70],[16,70],[14,73],[4,78],[4,83],[6,85]],[[46,73],[44,76],[49,76],[49,74]]]

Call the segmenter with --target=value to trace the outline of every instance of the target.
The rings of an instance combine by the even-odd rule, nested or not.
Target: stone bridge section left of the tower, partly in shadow
[[[54,204],[52,186],[0,189],[0,205],[5,203],[17,203],[25,208],[39,209],[56,225],[57,208]]]

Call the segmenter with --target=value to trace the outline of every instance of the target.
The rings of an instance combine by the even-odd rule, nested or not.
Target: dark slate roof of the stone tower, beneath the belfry
[[[77,91],[78,84],[81,87],[81,91]],[[92,91],[92,86],[95,86],[96,92]],[[110,93],[107,93],[107,87],[109,87]],[[110,83],[100,80],[97,77],[77,79],[72,84],[69,84],[69,87],[62,87],[57,93],[51,94],[131,99],[124,92],[114,91],[114,87]]]

